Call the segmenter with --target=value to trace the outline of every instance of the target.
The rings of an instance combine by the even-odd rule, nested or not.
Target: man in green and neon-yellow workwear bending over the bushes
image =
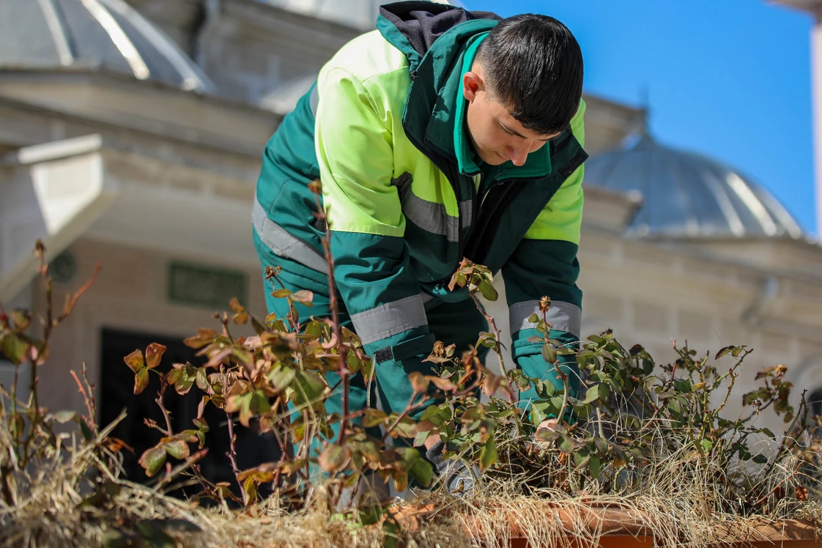
[[[314,292],[301,317],[328,314],[325,226],[307,187],[319,178],[340,319],[376,363],[384,409],[408,403],[409,373],[431,373],[423,358],[435,340],[468,348],[487,330],[468,292],[447,288],[464,256],[502,272],[517,366],[561,387],[528,342],[529,317],[547,295],[551,337],[578,341],[579,44],[551,17],[434,2],[381,7],[376,26],[331,58],[266,147],[254,205],[263,268]],[[284,316],[284,300],[266,300]],[[575,395],[579,371],[561,359]],[[355,380],[352,410],[367,402]],[[533,398],[520,394],[524,406]],[[339,397],[327,407],[339,412]],[[438,462],[441,443],[428,449]]]

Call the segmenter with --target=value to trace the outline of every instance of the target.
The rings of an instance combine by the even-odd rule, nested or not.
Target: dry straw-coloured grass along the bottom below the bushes
[[[67,463],[40,463],[39,472],[16,484],[16,504],[0,507],[0,546],[100,546],[114,529],[137,531],[144,520],[161,523],[173,544],[110,544],[109,546],[204,546],[241,548],[377,548],[386,532],[363,526],[350,514],[334,510],[326,487],[313,491],[308,509],[287,513],[272,498],[245,512],[201,508],[190,501],[165,496],[146,486],[116,479],[91,451],[80,451]],[[96,471],[95,474],[91,471]],[[487,478],[473,497],[457,500],[439,491],[420,492],[418,499],[393,507],[401,526],[401,546],[508,546],[510,537],[527,536],[533,546],[596,546],[598,537],[620,530],[653,536],[658,546],[710,546],[732,540],[729,524],[739,537],[755,540],[755,523],[763,518],[805,518],[822,524],[822,505],[786,497],[746,518],[718,511],[723,494],[716,492],[711,467],[688,467],[682,458],[660,459],[648,468],[638,488],[620,494],[598,490],[538,489],[521,494],[521,479]],[[82,481],[115,480],[118,492],[88,499]],[[582,481],[581,477],[577,478]],[[85,501],[85,502],[84,502]],[[614,512],[617,511],[617,518]],[[621,518],[619,518],[621,516]],[[199,532],[179,527],[184,520]],[[145,523],[145,522],[144,522]],[[141,538],[140,536],[136,536]]]

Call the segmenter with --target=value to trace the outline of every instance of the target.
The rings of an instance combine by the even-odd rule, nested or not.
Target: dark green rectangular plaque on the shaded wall
[[[227,310],[233,297],[247,303],[248,276],[242,270],[205,265],[169,264],[169,301]]]

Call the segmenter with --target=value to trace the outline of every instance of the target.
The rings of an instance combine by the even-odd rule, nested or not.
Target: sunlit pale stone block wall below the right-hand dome
[[[822,387],[822,283],[801,283],[783,279],[770,308],[765,308],[762,327],[741,320],[751,302],[762,294],[760,277],[755,270],[630,242],[620,237],[596,232],[583,233],[580,243],[580,281],[583,297],[582,338],[613,329],[621,343],[630,348],[639,343],[657,363],[677,359],[674,341],[704,355],[724,346],[747,345],[754,352],[743,362],[727,417],[741,411],[741,395],[760,385],[754,377],[765,367],[783,363],[788,367],[787,380],[794,383],[792,403],[796,406],[802,389],[808,394]],[[500,298],[487,303],[503,332],[506,345],[506,367],[510,361],[510,331],[504,283],[496,280]],[[798,311],[809,306],[815,312],[815,327],[802,325],[802,334],[779,320],[778,307]],[[789,314],[790,315],[790,314]],[[806,322],[810,320],[806,317]],[[497,368],[492,356],[489,364]],[[732,366],[724,357],[720,370]],[[763,414],[758,424],[774,432],[784,428],[772,413]]]

